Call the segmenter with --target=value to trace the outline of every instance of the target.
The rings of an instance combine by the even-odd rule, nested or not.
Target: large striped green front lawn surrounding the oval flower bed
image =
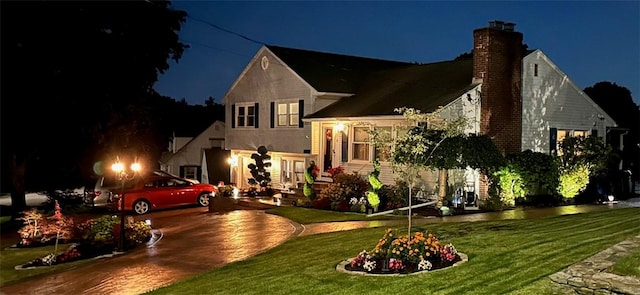
[[[272,250],[149,294],[553,294],[549,275],[640,234],[640,209],[532,220],[420,225],[469,261],[403,277],[339,273],[383,228],[293,238]],[[401,231],[401,228],[398,228]],[[404,229],[406,231],[406,228]]]

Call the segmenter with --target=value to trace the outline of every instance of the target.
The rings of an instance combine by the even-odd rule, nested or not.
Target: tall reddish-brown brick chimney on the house
[[[482,83],[480,132],[502,151],[522,147],[522,33],[489,22],[473,31],[473,81]]]

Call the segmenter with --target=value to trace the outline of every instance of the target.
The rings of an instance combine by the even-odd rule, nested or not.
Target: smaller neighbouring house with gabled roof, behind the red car
[[[161,157],[160,169],[202,183],[229,182],[224,130],[224,122],[215,121],[196,137],[174,136]]]

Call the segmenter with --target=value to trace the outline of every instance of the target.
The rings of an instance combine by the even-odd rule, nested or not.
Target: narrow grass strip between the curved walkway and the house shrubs
[[[361,213],[342,213],[330,210],[317,210],[294,206],[283,206],[266,211],[270,214],[279,215],[301,224],[331,222],[331,221],[368,221],[368,220],[390,220],[407,219],[406,216],[380,215],[367,217]]]

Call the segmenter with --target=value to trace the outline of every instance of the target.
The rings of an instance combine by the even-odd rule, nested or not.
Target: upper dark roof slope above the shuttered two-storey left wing
[[[411,63],[265,45],[315,90],[356,93],[372,72]]]

